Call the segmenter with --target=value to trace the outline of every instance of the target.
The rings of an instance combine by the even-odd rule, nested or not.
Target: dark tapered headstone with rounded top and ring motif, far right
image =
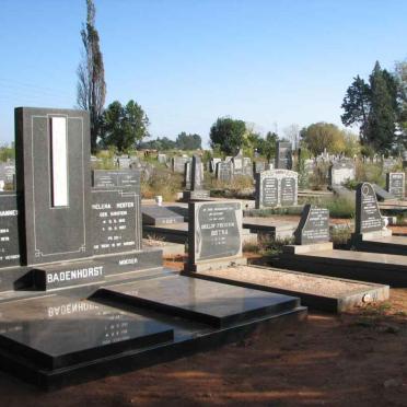
[[[369,183],[359,184],[356,200],[356,233],[379,232],[383,226],[383,218],[372,185]]]

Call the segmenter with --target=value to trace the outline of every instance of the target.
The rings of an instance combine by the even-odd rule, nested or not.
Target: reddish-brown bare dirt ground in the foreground
[[[407,289],[380,305],[310,312],[295,326],[53,393],[0,374],[4,407],[207,405],[407,406]]]

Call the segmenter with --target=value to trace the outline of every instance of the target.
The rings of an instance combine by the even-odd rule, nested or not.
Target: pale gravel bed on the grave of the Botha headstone
[[[367,291],[372,289],[372,286],[360,282],[344,281],[324,276],[282,271],[272,268],[263,269],[251,266],[229,267],[220,270],[205,270],[199,274],[282,290],[334,298],[354,291]]]

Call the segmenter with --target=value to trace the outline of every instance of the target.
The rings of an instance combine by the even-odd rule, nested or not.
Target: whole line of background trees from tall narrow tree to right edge
[[[163,137],[143,141],[149,136],[149,118],[133,100],[119,101],[104,108],[106,83],[103,55],[95,28],[95,7],[86,0],[86,23],[81,30],[82,61],[78,67],[78,105],[90,112],[92,152],[114,147],[118,152],[130,149],[197,150],[201,137],[182,132],[175,141]],[[359,126],[359,139],[351,131],[329,123],[315,123],[303,129],[291,125],[280,139],[277,131],[261,136],[254,126],[231,117],[219,117],[210,128],[210,144],[214,154],[233,155],[240,149],[245,154],[270,160],[278,140],[289,140],[310,156],[324,150],[352,156],[363,153],[400,153],[407,148],[407,62],[398,62],[394,72],[376,62],[369,81],[357,75],[346,91],[341,105],[345,126]]]

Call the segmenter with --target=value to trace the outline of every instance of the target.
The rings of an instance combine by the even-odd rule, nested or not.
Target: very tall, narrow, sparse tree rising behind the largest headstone
[[[105,69],[95,28],[95,14],[93,0],[86,0],[86,24],[81,30],[84,50],[77,70],[77,103],[80,108],[90,113],[92,152],[96,151],[106,97]]]

